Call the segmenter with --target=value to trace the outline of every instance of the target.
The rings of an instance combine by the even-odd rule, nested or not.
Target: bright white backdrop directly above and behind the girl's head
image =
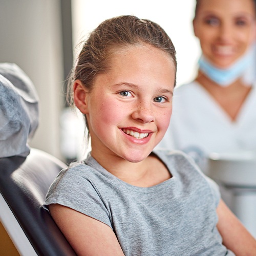
[[[177,51],[177,84],[195,76],[200,54],[192,30],[195,0],[73,0],[73,43],[96,28],[104,19],[119,15],[136,15],[158,23],[173,40]]]

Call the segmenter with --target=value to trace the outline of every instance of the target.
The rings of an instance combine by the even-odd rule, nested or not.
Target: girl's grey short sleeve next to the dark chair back
[[[79,167],[62,170],[49,188],[44,208],[60,204],[110,226],[110,214],[95,184]],[[112,228],[113,229],[113,228]]]

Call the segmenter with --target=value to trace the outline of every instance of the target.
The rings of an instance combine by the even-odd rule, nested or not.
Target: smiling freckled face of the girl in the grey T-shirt
[[[122,49],[111,60],[85,99],[92,156],[139,162],[167,130],[175,68],[166,53],[150,46]]]

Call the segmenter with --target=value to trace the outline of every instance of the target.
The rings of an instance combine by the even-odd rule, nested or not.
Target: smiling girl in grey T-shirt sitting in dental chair
[[[172,114],[175,54],[159,25],[134,16],[105,20],[84,43],[71,79],[92,151],[61,171],[45,202],[79,255],[256,252],[193,161],[152,152]]]

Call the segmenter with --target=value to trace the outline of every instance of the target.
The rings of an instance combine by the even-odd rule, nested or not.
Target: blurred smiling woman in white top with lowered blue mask
[[[255,0],[197,0],[198,74],[176,88],[174,113],[158,148],[205,155],[256,151],[256,88],[248,73],[255,65],[255,20]]]

